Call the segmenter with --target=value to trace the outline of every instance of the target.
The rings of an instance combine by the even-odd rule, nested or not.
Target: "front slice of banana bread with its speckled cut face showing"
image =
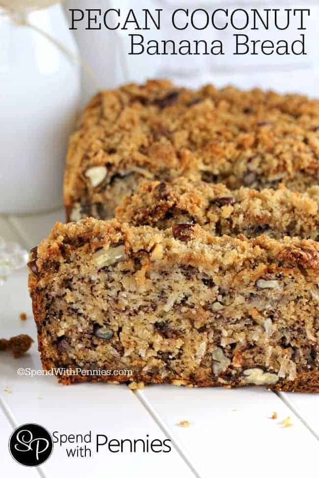
[[[90,218],[57,223],[29,268],[42,363],[63,383],[319,392],[318,242]]]

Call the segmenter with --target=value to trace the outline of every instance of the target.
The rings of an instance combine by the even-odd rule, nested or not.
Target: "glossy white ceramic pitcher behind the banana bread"
[[[27,20],[78,54],[60,5],[33,11]],[[0,213],[49,211],[63,202],[68,137],[80,103],[79,66],[6,15],[0,16],[0,45]]]

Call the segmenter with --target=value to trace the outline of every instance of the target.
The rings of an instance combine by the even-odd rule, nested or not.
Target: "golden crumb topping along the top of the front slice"
[[[124,248],[118,246],[120,241],[124,242]],[[288,267],[302,266],[309,274],[318,274],[319,271],[319,243],[312,240],[299,240],[296,237],[275,240],[266,235],[254,239],[244,236],[232,238],[226,235],[217,237],[194,225],[189,240],[185,241],[175,238],[172,229],[135,227],[121,224],[117,220],[105,222],[88,218],[78,223],[56,223],[49,238],[38,246],[37,259],[29,262],[33,273],[31,277],[51,276],[58,271],[60,263],[74,257],[77,251],[81,254],[90,253],[92,263],[95,263],[94,254],[101,248],[107,251],[110,245],[114,244],[121,248],[120,255],[123,259],[129,260],[133,252],[145,251],[151,256],[151,260],[154,260],[152,252],[160,247],[159,260],[163,260],[164,254],[167,260],[200,266],[204,270],[227,271],[235,268],[239,272],[246,267],[247,261],[252,267],[263,261],[266,275],[252,272],[256,281],[268,280],[266,271],[271,270],[274,261],[283,261]],[[118,249],[111,251],[107,257],[110,257],[109,254],[115,257],[117,251]],[[105,256],[104,252],[103,254]]]

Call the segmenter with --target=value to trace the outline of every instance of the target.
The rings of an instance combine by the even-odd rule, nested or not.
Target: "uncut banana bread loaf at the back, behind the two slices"
[[[68,220],[113,217],[143,179],[294,191],[319,183],[319,101],[255,89],[197,91],[166,80],[98,94],[67,157]]]

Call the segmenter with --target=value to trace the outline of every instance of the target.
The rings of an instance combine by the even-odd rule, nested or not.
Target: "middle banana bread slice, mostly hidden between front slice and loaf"
[[[223,184],[182,177],[171,183],[144,181],[116,208],[116,217],[133,226],[160,229],[199,224],[217,236],[251,238],[265,233],[275,239],[297,236],[319,241],[319,186],[300,194],[285,187],[231,191]]]

